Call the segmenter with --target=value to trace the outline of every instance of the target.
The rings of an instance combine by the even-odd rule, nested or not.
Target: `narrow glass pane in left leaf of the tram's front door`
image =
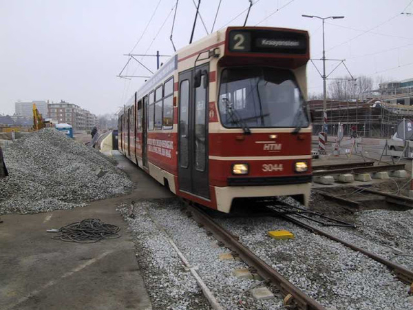
[[[189,121],[189,81],[184,80],[180,83],[179,91],[179,109],[180,109],[180,121],[179,121],[179,163],[183,168],[187,168],[189,165],[188,154],[188,121]]]

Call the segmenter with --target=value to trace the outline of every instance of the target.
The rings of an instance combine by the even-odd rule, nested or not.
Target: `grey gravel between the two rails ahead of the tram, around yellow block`
[[[359,252],[277,218],[218,220],[257,256],[325,307],[337,310],[413,309],[408,287]],[[267,232],[286,229],[293,240]]]

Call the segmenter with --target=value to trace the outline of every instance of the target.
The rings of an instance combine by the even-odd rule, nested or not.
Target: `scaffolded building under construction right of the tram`
[[[386,99],[327,101],[327,134],[337,136],[341,123],[345,136],[354,128],[358,136],[390,138],[399,121],[413,120],[413,106],[385,103]],[[318,135],[323,126],[323,101],[308,101],[308,105],[313,114],[313,134]]]

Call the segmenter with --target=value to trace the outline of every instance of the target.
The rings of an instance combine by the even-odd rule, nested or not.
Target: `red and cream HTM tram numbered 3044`
[[[307,204],[308,33],[229,27],[182,48],[119,117],[120,152],[171,192],[231,211],[235,200]]]

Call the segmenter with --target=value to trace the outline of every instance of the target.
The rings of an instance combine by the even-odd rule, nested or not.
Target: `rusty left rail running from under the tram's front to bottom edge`
[[[191,205],[185,204],[188,211],[198,221],[198,223],[204,225],[204,227],[215,236],[217,240],[223,242],[226,247],[235,251],[244,262],[250,267],[253,267],[257,273],[264,279],[268,279],[276,285],[284,296],[293,296],[293,302],[295,302],[297,309],[302,310],[326,310],[319,302],[313,300],[305,293],[300,291],[295,285],[290,283],[286,278],[279,274],[275,269],[271,268],[264,262],[264,260],[258,258],[252,251],[242,245],[237,237],[233,236],[229,231],[226,231],[223,227],[215,223],[215,221],[204,211]]]

